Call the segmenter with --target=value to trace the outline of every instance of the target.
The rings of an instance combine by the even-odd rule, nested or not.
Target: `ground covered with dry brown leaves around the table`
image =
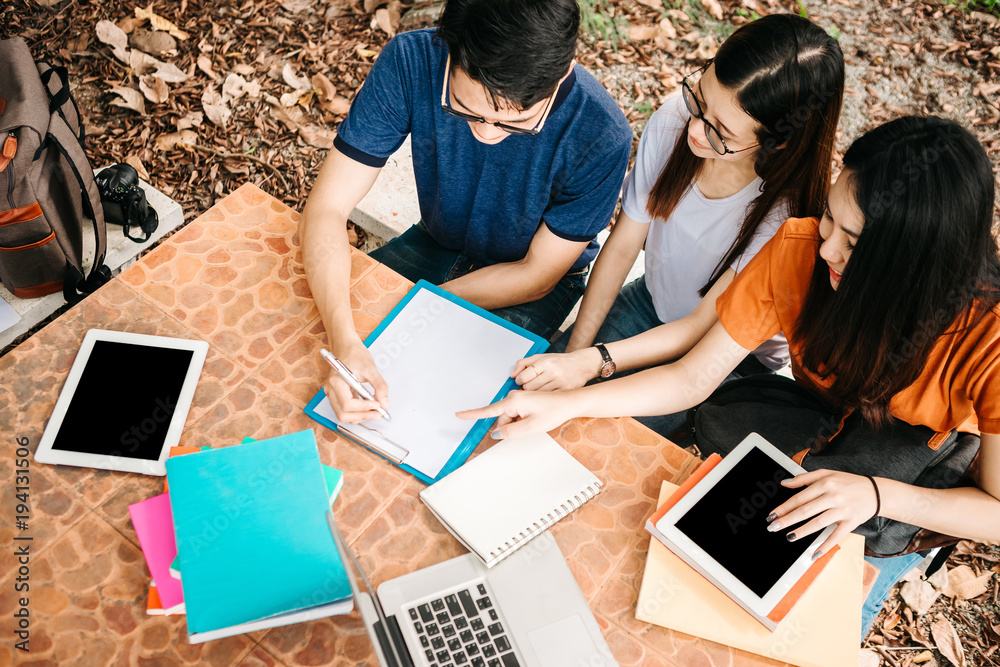
[[[864,131],[920,113],[961,122],[1000,165],[995,0],[580,4],[579,60],[611,91],[636,138],[733,30],[794,12],[844,50],[838,158]],[[95,166],[132,164],[190,220],[245,182],[301,209],[381,48],[395,32],[433,22],[436,11],[400,0],[7,0],[0,36],[21,36],[36,58],[68,68]],[[865,639],[862,663],[1000,665],[998,562],[1000,548],[962,543],[939,574],[902,584]]]

